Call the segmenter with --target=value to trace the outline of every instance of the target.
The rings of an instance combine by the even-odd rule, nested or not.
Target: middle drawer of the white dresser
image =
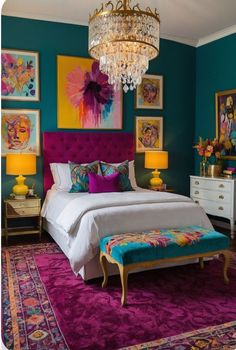
[[[204,188],[200,187],[192,187],[190,196],[200,198],[200,199],[207,199],[211,201],[215,201],[219,204],[221,203],[230,203],[232,200],[232,192],[226,192],[221,190],[206,190]]]

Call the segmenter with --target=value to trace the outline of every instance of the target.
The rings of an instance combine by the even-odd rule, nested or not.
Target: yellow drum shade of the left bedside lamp
[[[7,154],[7,175],[34,175],[36,174],[36,155],[27,153]]]

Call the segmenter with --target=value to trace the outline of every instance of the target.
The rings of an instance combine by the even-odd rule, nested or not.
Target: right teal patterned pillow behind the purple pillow
[[[134,191],[129,180],[129,162],[125,162],[115,166],[109,163],[100,162],[100,168],[103,176],[119,172],[119,186],[121,191]]]

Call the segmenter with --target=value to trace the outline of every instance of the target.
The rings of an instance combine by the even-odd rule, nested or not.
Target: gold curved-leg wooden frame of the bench
[[[163,263],[172,263],[172,262],[179,262],[189,259],[199,259],[200,267],[201,269],[204,268],[204,261],[203,258],[205,257],[212,257],[213,255],[223,254],[224,255],[224,267],[223,267],[223,276],[224,276],[224,283],[229,283],[229,278],[227,275],[227,270],[229,267],[229,261],[231,252],[229,250],[215,250],[213,252],[207,252],[207,253],[201,253],[201,254],[193,254],[193,255],[187,255],[187,256],[179,256],[175,258],[164,258],[164,259],[158,259],[153,261],[144,261],[144,262],[138,262],[135,264],[129,264],[129,265],[122,265],[119,262],[117,262],[114,258],[112,258],[109,254],[104,253],[103,251],[100,251],[100,264],[103,271],[103,282],[102,282],[102,288],[105,288],[107,286],[108,281],[108,272],[107,272],[107,266],[106,261],[110,262],[111,264],[118,265],[119,271],[120,271],[120,279],[121,279],[121,285],[122,285],[122,296],[121,296],[121,304],[125,305],[127,302],[127,292],[128,292],[128,273],[131,270],[135,270],[137,268],[151,268],[155,267],[159,264]]]

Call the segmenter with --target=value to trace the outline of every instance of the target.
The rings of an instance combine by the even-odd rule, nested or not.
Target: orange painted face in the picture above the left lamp
[[[6,131],[3,133],[9,149],[23,150],[30,139],[31,122],[26,115],[6,116]]]

